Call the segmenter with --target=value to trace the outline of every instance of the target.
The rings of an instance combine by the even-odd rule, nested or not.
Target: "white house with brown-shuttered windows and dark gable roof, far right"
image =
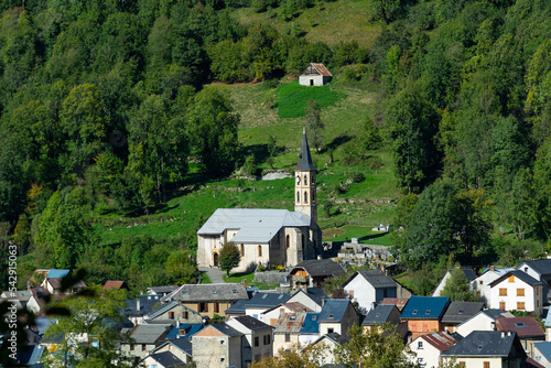
[[[522,271],[510,271],[490,284],[490,307],[526,311],[540,316],[543,307],[543,284]]]

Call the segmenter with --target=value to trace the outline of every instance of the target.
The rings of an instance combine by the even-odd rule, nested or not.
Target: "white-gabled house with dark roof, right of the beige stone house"
[[[231,318],[226,324],[242,334],[241,367],[272,356],[272,326],[248,315]]]

